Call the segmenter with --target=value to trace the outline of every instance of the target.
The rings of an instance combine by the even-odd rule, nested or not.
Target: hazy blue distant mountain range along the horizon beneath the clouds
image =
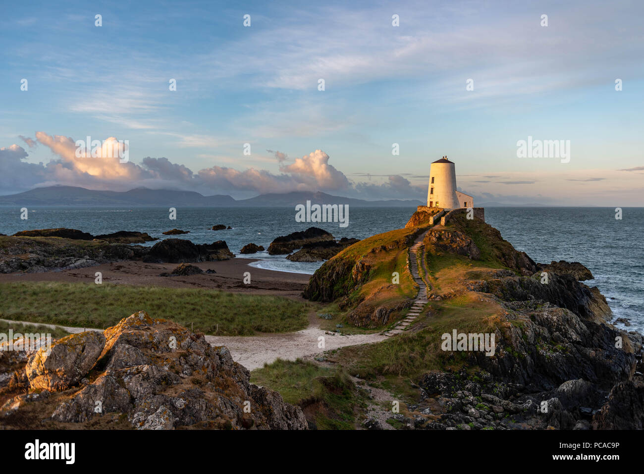
[[[204,196],[195,191],[172,191],[137,187],[129,191],[95,191],[77,186],[37,187],[24,193],[0,196],[0,205],[84,205],[84,206],[147,206],[147,205],[204,205],[204,206],[288,206],[306,204],[348,204],[363,207],[415,207],[419,200],[380,200],[344,198],[317,192],[294,191],[283,194],[260,194],[254,198],[235,200],[226,194]]]

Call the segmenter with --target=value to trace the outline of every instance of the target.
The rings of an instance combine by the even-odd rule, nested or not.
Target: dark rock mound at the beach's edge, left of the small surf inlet
[[[143,261],[149,263],[194,263],[198,261],[228,260],[234,254],[223,240],[194,244],[189,240],[165,239],[155,243]]]

